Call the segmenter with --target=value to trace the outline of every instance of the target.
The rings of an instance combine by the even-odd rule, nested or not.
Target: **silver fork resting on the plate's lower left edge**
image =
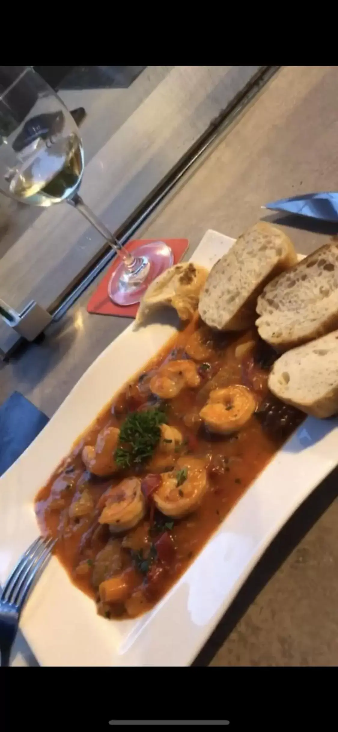
[[[34,581],[45,568],[56,539],[39,537],[20,557],[0,595],[1,666],[10,665],[12,645],[18,632],[20,613]]]

